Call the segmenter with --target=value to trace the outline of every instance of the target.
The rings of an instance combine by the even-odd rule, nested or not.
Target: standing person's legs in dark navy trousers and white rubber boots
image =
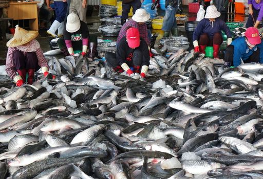
[[[50,5],[50,0],[46,0],[48,9],[52,10]],[[67,2],[64,0],[54,0],[55,7],[55,20],[53,21],[50,28],[47,30],[47,33],[52,37],[62,37],[64,29],[64,18],[67,13]],[[58,30],[58,34],[55,32]]]

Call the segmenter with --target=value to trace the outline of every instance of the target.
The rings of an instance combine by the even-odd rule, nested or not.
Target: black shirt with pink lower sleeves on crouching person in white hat
[[[70,33],[64,26],[64,39],[67,49],[82,50],[82,46],[88,46],[88,26],[84,21],[80,21],[80,29],[77,32]]]

